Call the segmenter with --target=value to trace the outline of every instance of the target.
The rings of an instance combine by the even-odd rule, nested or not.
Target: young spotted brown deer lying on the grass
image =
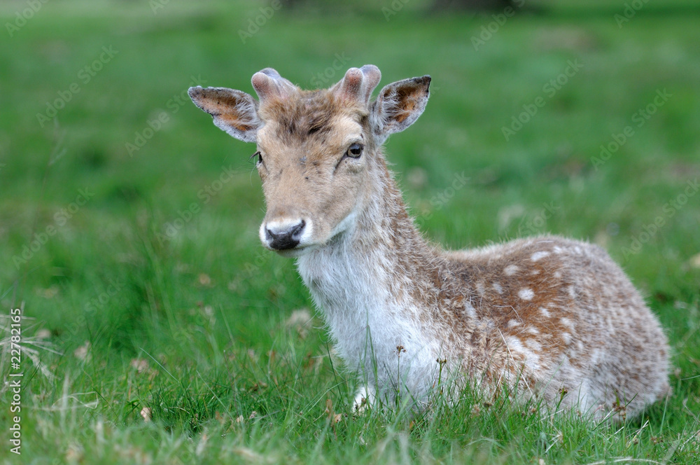
[[[430,76],[371,101],[380,76],[365,65],[306,91],[267,68],[253,75],[259,102],[189,91],[216,126],[258,144],[260,240],[297,259],[365,395],[426,401],[439,373],[458,373],[456,386],[505,386],[595,418],[636,415],[666,395],[666,336],[601,248],[545,236],[442,251],[423,240],[381,145],[421,115]]]

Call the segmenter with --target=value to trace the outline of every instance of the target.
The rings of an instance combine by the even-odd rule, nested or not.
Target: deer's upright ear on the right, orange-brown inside
[[[372,104],[372,130],[386,139],[412,125],[428,103],[430,76],[405,79],[386,85]]]

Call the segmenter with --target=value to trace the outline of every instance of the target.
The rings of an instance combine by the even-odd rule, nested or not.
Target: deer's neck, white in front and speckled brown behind
[[[418,299],[426,296],[421,288],[430,286],[420,281],[435,268],[435,252],[416,230],[395,181],[383,168],[353,227],[297,259],[339,353],[350,363],[364,360],[358,352],[367,349],[367,336],[377,356],[423,338],[419,309],[425,304]]]

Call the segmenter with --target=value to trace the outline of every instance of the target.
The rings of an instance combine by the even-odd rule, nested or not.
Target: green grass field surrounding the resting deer
[[[366,3],[340,16],[283,7],[246,43],[238,30],[265,2],[170,1],[155,15],[147,2],[48,2],[12,37],[4,25],[27,4],[0,5],[0,307],[24,309],[25,354],[38,357],[21,363],[22,457],[9,452],[13,394],[0,387],[3,463],[698,463],[700,194],[666,204],[700,178],[699,10],[648,2],[618,28],[624,2],[585,14],[540,2],[552,10],[510,18],[475,50],[490,15],[426,16],[424,4],[388,22]],[[80,70],[110,46],[86,82]],[[568,60],[583,67],[549,95]],[[253,146],[179,95],[193,78],[251,91],[269,66],[304,88],[330,68],[330,85],[365,63],[382,85],[433,76],[426,113],[386,148],[426,236],[451,248],[540,232],[602,244],[668,331],[673,397],[619,426],[470,391],[425,415],[351,415],[355,378],[321,317],[288,324],[309,295],[258,242]],[[37,113],[73,83],[42,127]],[[636,126],[664,89],[672,97]],[[506,141],[501,128],[539,96]],[[16,370],[9,352],[0,360],[6,382]]]

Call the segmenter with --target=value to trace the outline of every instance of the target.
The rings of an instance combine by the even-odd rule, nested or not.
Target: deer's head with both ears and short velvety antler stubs
[[[216,126],[258,145],[265,247],[285,256],[322,247],[352,230],[371,196],[381,195],[381,144],[423,113],[430,76],[386,85],[370,102],[380,78],[367,64],[330,89],[306,91],[266,68],[252,79],[259,101],[240,90],[190,88]]]

